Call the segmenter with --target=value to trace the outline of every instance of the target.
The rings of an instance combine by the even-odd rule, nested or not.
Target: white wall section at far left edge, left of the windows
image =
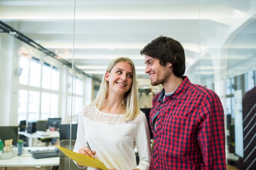
[[[0,124],[17,126],[18,76],[16,76],[18,41],[7,34],[0,36]]]

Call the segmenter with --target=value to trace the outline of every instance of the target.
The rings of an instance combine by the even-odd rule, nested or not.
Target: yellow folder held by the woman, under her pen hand
[[[76,161],[77,163],[79,163],[80,165],[83,166],[88,166],[91,168],[99,168],[101,170],[108,170],[108,168],[104,165],[104,163],[102,163],[101,161],[99,161],[98,159],[94,159],[92,157],[88,157],[76,152],[73,152],[72,150],[63,148],[59,145],[56,145],[61,152],[63,152],[67,157],[69,157],[70,159]]]

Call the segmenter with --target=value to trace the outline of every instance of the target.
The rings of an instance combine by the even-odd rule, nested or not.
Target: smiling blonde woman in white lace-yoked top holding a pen
[[[83,106],[76,136],[74,152],[99,159],[110,170],[148,170],[150,133],[146,116],[139,110],[132,60],[119,57],[110,63],[96,99]]]

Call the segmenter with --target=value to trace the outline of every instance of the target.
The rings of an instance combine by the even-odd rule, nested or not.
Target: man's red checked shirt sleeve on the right
[[[207,98],[200,109],[198,143],[202,150],[202,169],[226,169],[224,111],[217,95]]]

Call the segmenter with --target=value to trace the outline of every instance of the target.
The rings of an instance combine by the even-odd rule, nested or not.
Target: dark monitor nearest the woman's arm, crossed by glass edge
[[[77,124],[72,124],[71,139],[76,139]],[[70,124],[60,124],[59,128],[60,141],[63,139],[70,139]]]

